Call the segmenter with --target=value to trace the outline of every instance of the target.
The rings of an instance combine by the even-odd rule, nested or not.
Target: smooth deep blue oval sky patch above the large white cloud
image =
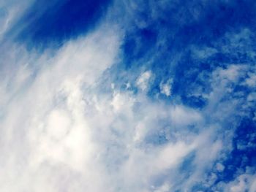
[[[15,26],[18,40],[33,45],[59,45],[94,28],[110,0],[36,1]]]

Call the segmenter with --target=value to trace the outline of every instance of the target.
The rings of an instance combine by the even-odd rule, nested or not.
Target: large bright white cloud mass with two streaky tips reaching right
[[[152,188],[151,182],[200,147],[197,136],[176,135],[165,145],[146,142],[162,128],[160,120],[185,128],[202,122],[199,112],[114,86],[101,91],[97,82],[115,63],[119,42],[116,31],[101,31],[67,42],[53,56],[50,50],[40,56],[13,53],[15,60],[24,59],[1,82],[7,98],[1,165],[8,173],[1,174],[1,191],[166,191],[169,184]],[[36,69],[23,62],[29,57]]]

